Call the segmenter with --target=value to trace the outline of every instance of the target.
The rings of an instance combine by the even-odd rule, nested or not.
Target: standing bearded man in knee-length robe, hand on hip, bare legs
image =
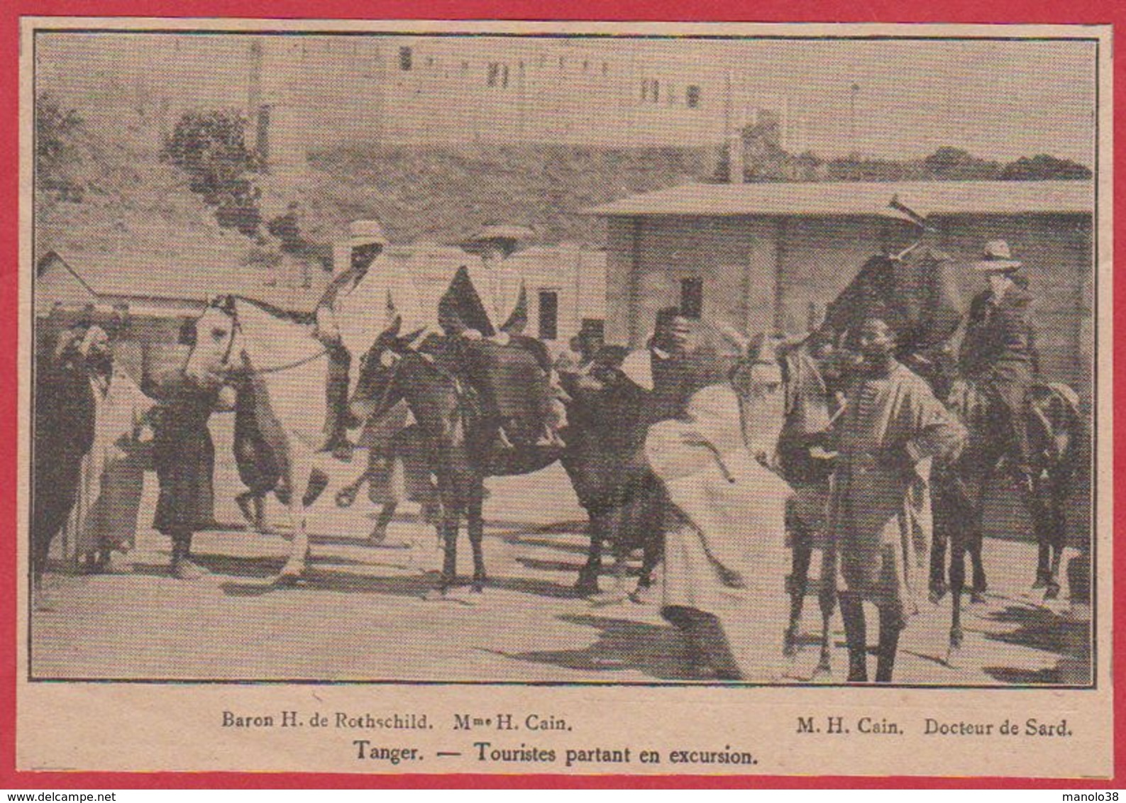
[[[879,610],[876,682],[891,682],[900,631],[927,588],[929,533],[918,520],[927,492],[924,461],[955,452],[966,434],[927,383],[895,359],[886,321],[867,318],[859,348],[844,411],[828,430],[838,455],[830,560],[837,564],[848,680],[868,680],[868,601]]]

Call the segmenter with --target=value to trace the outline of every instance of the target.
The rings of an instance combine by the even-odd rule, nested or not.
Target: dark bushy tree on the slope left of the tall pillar
[[[220,224],[256,237],[261,224],[252,175],[257,154],[247,148],[247,119],[239,114],[187,111],[164,143],[164,158],[188,173],[191,190],[216,207]]]

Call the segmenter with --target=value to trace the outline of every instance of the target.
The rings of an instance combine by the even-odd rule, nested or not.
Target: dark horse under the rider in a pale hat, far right
[[[960,454],[937,463],[932,475],[935,543],[931,548],[930,595],[938,601],[947,590],[947,547],[950,551],[949,591],[953,597],[950,646],[962,645],[962,592],[965,559],[972,564],[971,601],[984,601],[988,587],[982,562],[984,494],[1001,479],[1008,457],[999,407],[974,382],[957,380],[946,396],[947,407],[969,431]],[[1021,500],[1031,518],[1038,547],[1034,588],[1044,588],[1046,599],[1060,594],[1060,559],[1066,542],[1065,506],[1079,466],[1083,443],[1083,418],[1075,393],[1066,385],[1034,385],[1025,409],[1031,447],[1033,480],[1021,488]]]

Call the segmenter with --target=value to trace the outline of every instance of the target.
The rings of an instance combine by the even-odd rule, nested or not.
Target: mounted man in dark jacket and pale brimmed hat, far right
[[[974,296],[958,364],[963,376],[990,394],[1002,420],[1006,454],[1018,479],[1028,482],[1029,446],[1025,398],[1037,371],[1036,339],[1030,320],[1033,296],[1016,275],[1020,262],[1003,240],[985,243],[974,269],[990,288]]]

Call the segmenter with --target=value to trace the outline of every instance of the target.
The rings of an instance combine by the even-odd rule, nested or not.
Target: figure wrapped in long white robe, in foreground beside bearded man
[[[765,349],[645,441],[674,506],[662,615],[683,632],[694,668],[720,679],[769,682],[785,667],[790,489],[770,467],[784,408],[781,372]]]

